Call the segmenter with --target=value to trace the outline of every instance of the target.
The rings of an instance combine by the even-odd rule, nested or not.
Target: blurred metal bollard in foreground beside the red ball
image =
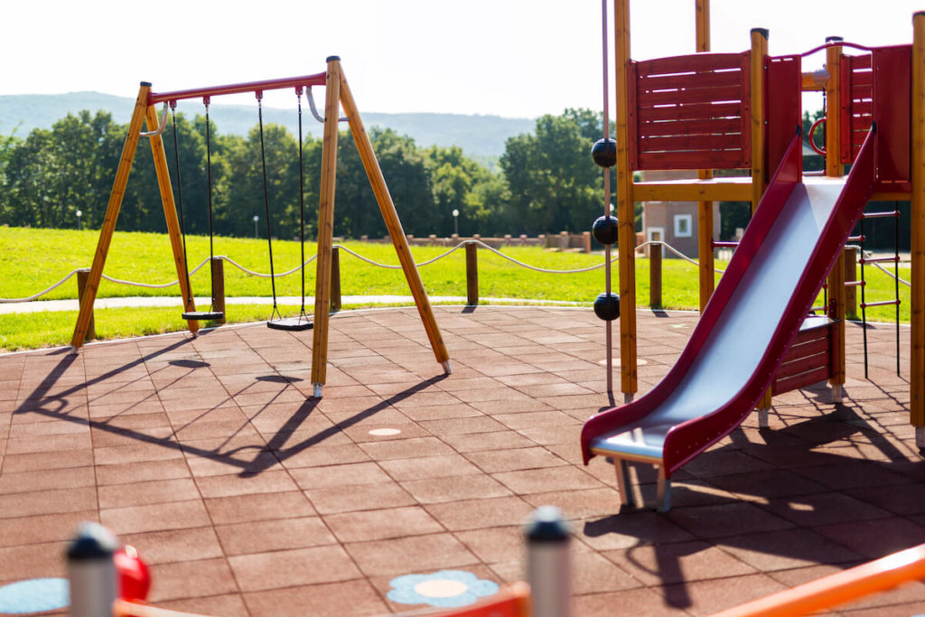
[[[116,536],[101,524],[83,523],[68,546],[72,617],[111,617],[117,597]]]

